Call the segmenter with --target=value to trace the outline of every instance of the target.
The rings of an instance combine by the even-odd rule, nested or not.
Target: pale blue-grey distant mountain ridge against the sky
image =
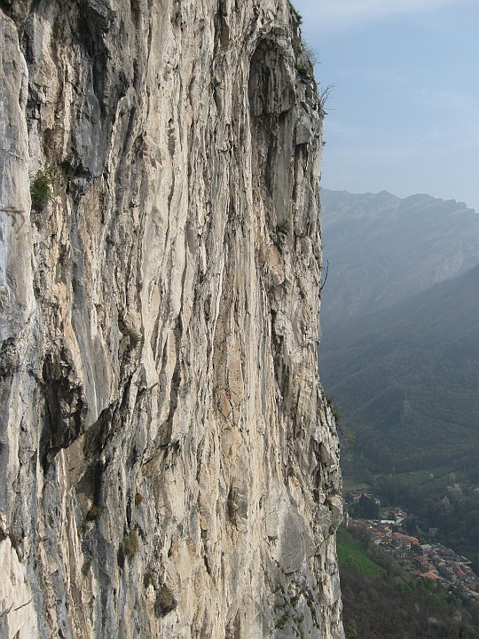
[[[396,304],[479,263],[479,215],[429,195],[321,189],[323,327]]]

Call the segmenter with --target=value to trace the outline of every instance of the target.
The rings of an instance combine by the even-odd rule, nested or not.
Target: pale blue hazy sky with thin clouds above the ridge
[[[334,84],[321,185],[479,212],[479,0],[293,0]]]

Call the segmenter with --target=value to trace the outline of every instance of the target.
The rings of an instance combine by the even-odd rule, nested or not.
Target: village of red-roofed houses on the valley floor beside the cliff
[[[389,517],[365,520],[347,516],[346,524],[363,529],[374,544],[418,578],[442,583],[445,588],[453,588],[462,596],[479,602],[479,578],[466,557],[440,543],[421,544],[417,537],[400,533],[401,523],[407,517],[404,510],[394,509]],[[436,534],[436,529],[429,530],[429,537]]]

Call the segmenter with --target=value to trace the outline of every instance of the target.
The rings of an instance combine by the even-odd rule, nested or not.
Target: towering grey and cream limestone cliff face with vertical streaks
[[[0,9],[0,635],[342,637],[297,15]]]

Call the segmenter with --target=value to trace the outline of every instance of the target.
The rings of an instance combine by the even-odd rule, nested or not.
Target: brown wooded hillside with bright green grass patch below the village
[[[355,531],[338,534],[346,639],[475,639],[479,605],[410,573]]]

